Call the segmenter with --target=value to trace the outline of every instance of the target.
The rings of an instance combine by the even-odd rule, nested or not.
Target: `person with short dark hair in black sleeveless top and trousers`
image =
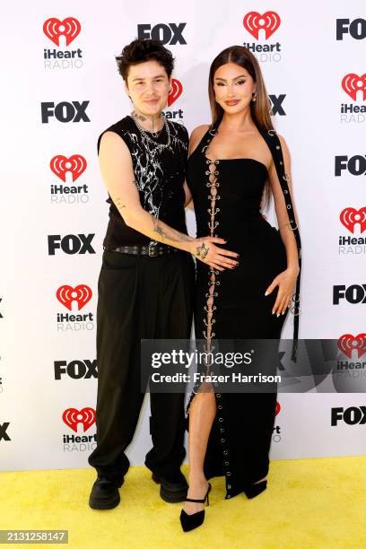
[[[185,183],[187,129],[161,115],[174,60],[156,40],[134,40],[117,57],[131,116],[99,137],[102,179],[109,191],[109,225],[98,283],[97,448],[89,457],[98,477],[92,509],[113,509],[129,467],[126,448],[144,401],[141,339],[188,339],[192,323],[194,262],[231,268],[236,254],[224,240],[187,235]],[[145,465],[161,484],[164,501],[183,501],[184,394],[151,394],[153,449]]]

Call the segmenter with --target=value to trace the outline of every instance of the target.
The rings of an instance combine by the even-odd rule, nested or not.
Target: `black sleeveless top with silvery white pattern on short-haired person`
[[[188,134],[185,126],[167,120],[170,129],[170,146],[163,149],[150,143],[135,125],[134,118],[127,116],[113,124],[98,139],[98,153],[101,136],[115,132],[126,143],[131,153],[135,174],[135,184],[140,202],[146,212],[166,222],[177,231],[187,234],[184,211],[185,192],[183,183],[186,178]],[[165,126],[154,139],[157,144],[168,143]],[[144,246],[151,239],[139,231],[128,227],[111,197],[107,199],[109,207],[109,225],[103,240],[105,248],[118,246]]]

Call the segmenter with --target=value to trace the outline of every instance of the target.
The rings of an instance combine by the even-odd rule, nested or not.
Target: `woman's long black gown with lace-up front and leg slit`
[[[272,315],[276,290],[265,292],[287,262],[279,231],[259,212],[266,166],[249,158],[210,161],[205,148],[212,137],[204,135],[187,165],[197,237],[227,240],[224,248],[240,254],[240,265],[218,272],[196,261],[196,339],[279,339],[286,314]],[[225,475],[227,499],[268,473],[276,394],[215,392],[215,397],[205,475]]]

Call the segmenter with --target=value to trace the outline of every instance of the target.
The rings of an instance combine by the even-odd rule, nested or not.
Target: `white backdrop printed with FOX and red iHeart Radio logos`
[[[95,446],[97,279],[108,221],[96,143],[131,110],[114,57],[136,37],[161,39],[176,57],[166,116],[189,131],[210,121],[213,57],[233,44],[256,53],[274,124],[292,153],[303,246],[300,334],[345,341],[339,367],[353,387],[280,395],[271,455],[365,453],[364,8],[363,0],[7,4],[1,469],[87,466]],[[194,233],[191,213],[188,226]],[[133,465],[150,448],[148,415],[147,397],[128,450]]]

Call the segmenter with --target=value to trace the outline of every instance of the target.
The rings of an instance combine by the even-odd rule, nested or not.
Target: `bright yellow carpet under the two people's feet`
[[[161,501],[146,468],[130,468],[114,510],[89,508],[94,479],[93,469],[0,473],[0,529],[67,529],[80,549],[366,548],[366,457],[272,461],[254,500],[223,500],[213,479],[205,524],[189,533],[181,504]]]

